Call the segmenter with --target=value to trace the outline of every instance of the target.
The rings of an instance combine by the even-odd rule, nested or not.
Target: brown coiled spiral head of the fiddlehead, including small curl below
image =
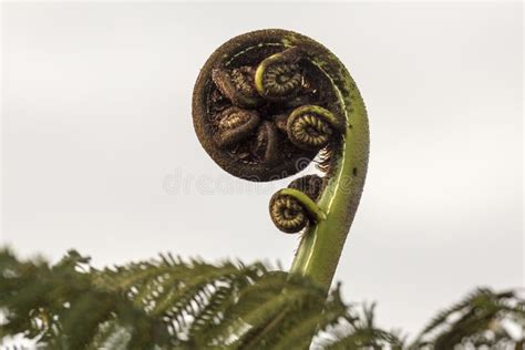
[[[289,34],[303,40],[284,40]],[[206,61],[193,95],[198,140],[226,172],[268,182],[302,171],[319,154],[329,176],[331,150],[341,143],[346,117],[340,92],[315,56],[326,50],[285,30],[236,37]],[[322,151],[322,152],[320,152]],[[270,199],[270,216],[285,233],[322,217],[316,206],[326,178],[296,179]]]

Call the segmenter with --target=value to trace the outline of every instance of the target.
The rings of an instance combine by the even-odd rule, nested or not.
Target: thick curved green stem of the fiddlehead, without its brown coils
[[[291,274],[309,277],[328,291],[364,185],[369,155],[368,117],[353,79],[328,49],[305,37],[287,39],[290,44],[310,45],[310,59],[332,81],[347,121],[340,148],[334,150],[334,168],[318,202],[326,219],[307,229],[290,269]]]

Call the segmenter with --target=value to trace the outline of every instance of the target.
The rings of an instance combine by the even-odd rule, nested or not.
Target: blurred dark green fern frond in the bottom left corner
[[[0,253],[0,307],[6,313],[2,334],[24,334],[53,349],[83,349],[115,318],[131,329],[130,349],[167,344],[162,322],[136,308],[125,296],[97,288],[89,260],[71,251],[50,267],[43,261],[18,261]]]

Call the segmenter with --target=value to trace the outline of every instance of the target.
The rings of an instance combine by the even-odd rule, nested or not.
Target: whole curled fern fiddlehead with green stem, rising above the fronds
[[[368,166],[364,103],[328,49],[286,30],[236,37],[207,60],[195,84],[193,120],[210,157],[255,182],[307,175],[270,199],[285,233],[302,233],[291,272],[328,289],[353,220]]]

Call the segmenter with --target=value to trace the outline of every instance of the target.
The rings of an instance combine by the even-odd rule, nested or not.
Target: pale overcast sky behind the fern
[[[518,2],[3,3],[1,243],[96,266],[172,251],[287,268],[298,238],[267,205],[289,179],[224,173],[191,95],[224,41],[290,29],[344,62],[370,117],[336,279],[414,333],[475,286],[523,286],[522,20]]]

